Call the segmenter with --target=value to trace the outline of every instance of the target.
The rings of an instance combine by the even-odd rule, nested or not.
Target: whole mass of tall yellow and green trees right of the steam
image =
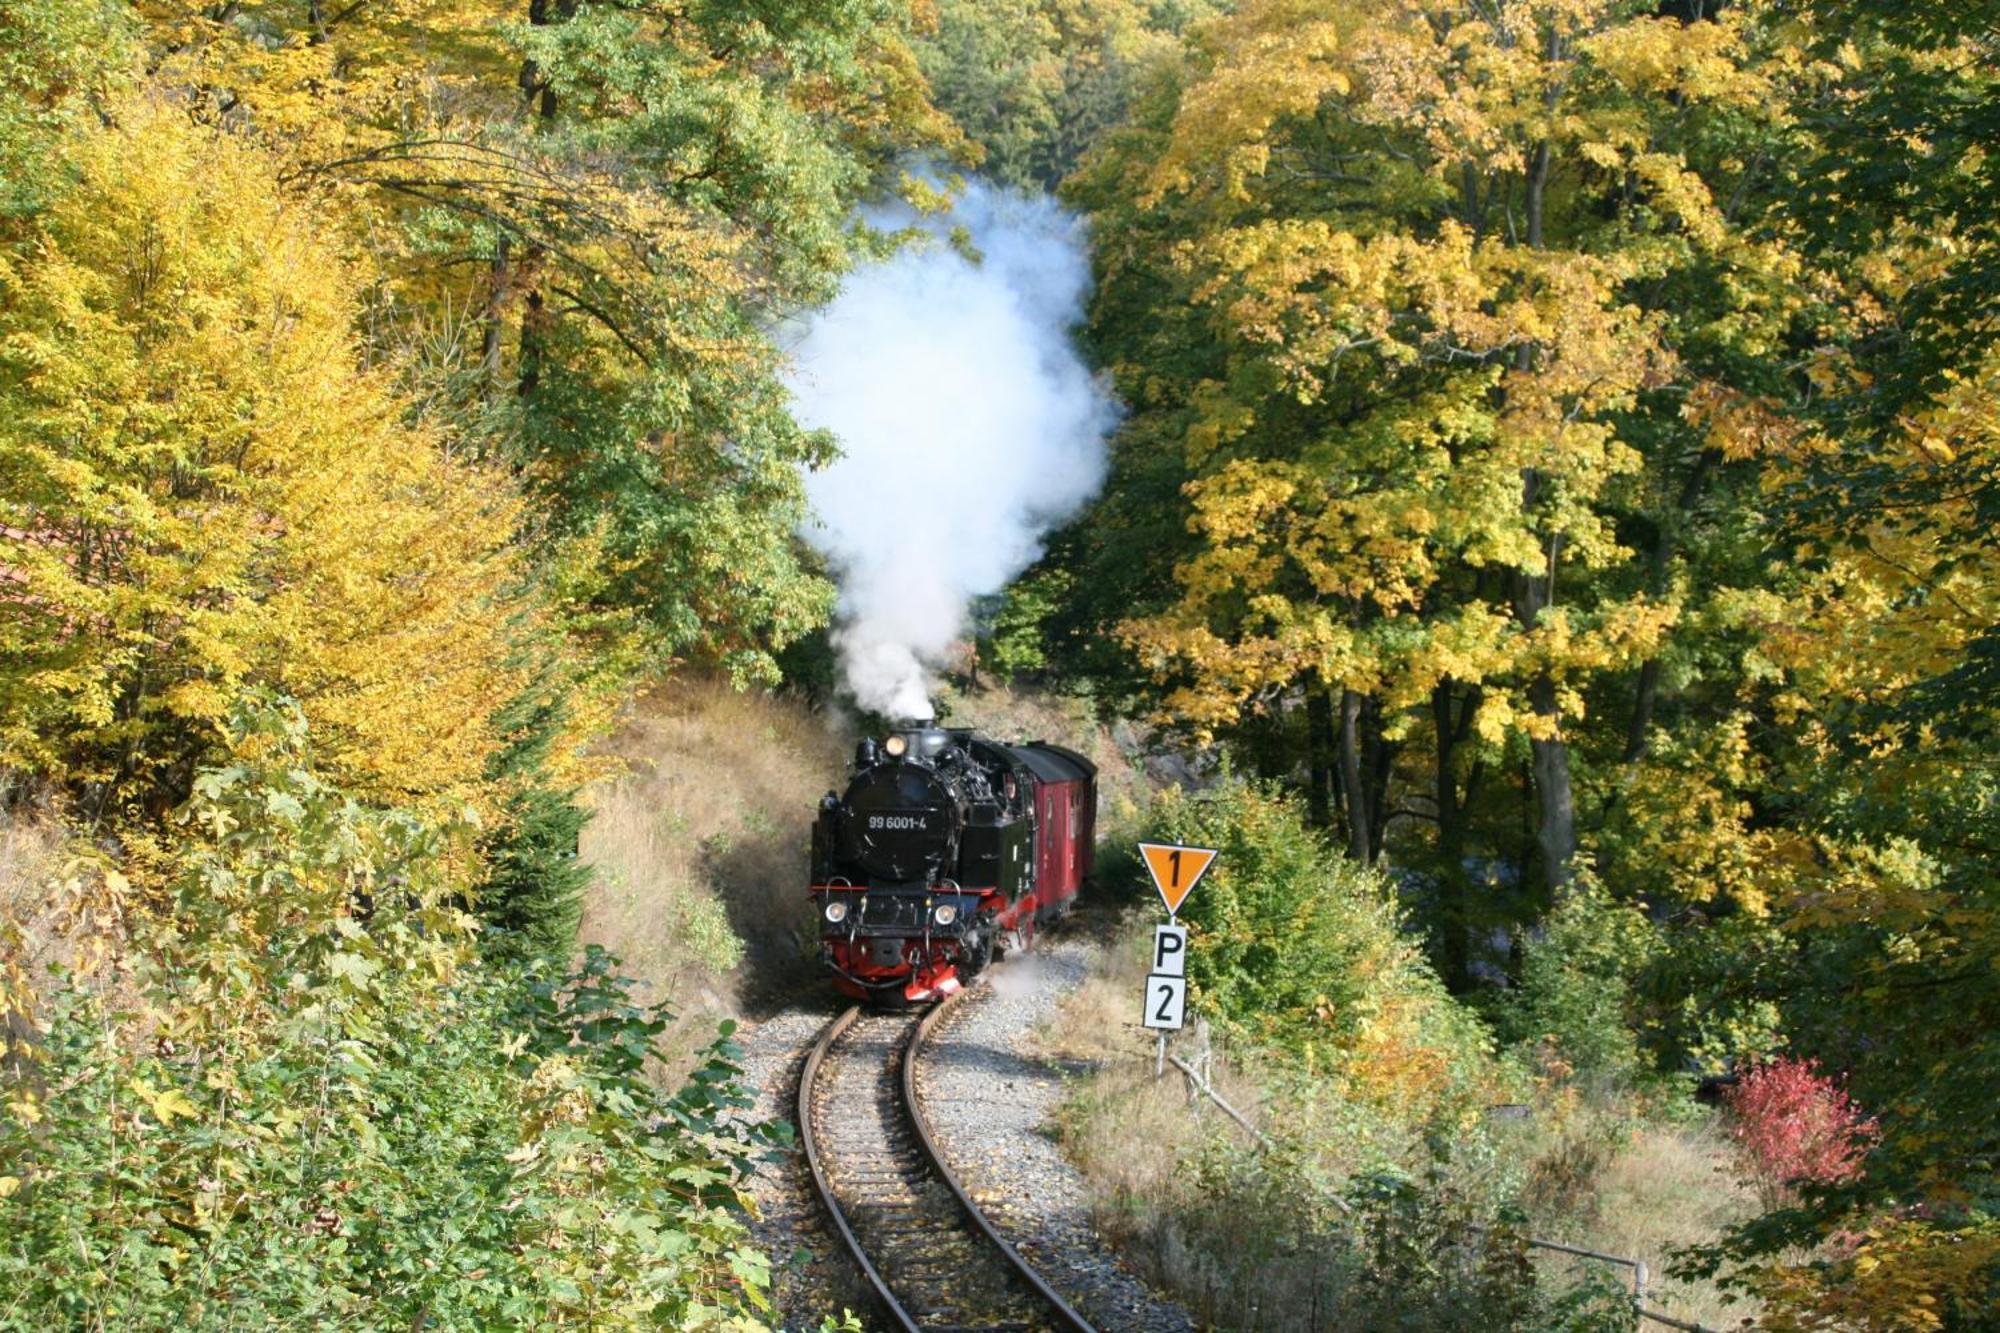
[[[1418,871],[1454,983],[1590,875],[1664,1061],[1852,1071],[1864,1183],[1728,1251],[1778,1327],[1994,1293],[1996,30],[1248,0],[1068,184],[1134,416],[1050,630]]]

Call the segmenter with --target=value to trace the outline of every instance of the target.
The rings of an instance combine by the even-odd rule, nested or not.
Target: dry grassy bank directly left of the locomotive
[[[848,745],[798,701],[674,681],[608,749],[624,775],[586,793],[596,881],[580,939],[678,1011],[666,1045],[686,1055],[716,1019],[816,979],[802,951],[806,849]]]

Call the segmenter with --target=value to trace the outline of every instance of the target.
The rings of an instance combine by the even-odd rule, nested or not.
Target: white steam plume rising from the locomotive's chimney
[[[800,420],[840,438],[806,476],[806,540],[840,578],[848,687],[912,719],[930,717],[928,673],[968,602],[1096,492],[1118,418],[1070,344],[1090,288],[1082,222],[972,184],[926,226],[966,228],[980,262],[938,240],[862,268],[814,314],[790,376]]]

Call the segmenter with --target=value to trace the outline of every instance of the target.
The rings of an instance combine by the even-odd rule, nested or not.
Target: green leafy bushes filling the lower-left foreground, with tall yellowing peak
[[[8,1053],[0,1327],[754,1321],[774,1139],[726,1035],[662,1093],[612,959],[488,971],[430,831],[324,787],[284,711],[238,753],[138,991],[66,979]]]

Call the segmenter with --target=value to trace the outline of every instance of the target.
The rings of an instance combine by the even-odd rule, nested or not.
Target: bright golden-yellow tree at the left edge
[[[0,759],[142,799],[264,685],[358,793],[490,813],[508,488],[360,364],[358,274],[258,150],[134,100],[70,168],[0,254]]]

